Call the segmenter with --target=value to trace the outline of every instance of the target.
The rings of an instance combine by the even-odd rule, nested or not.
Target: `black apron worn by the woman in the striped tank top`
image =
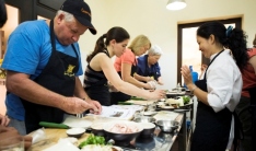
[[[104,50],[103,53],[105,53],[110,58],[107,50]],[[91,67],[88,66],[88,68],[91,68]],[[91,70],[93,70],[93,69],[91,69]],[[101,103],[101,105],[104,105],[104,106],[110,105],[110,94],[108,91],[106,78],[93,83],[93,85],[91,85],[90,88],[84,88],[84,90],[85,90],[86,94],[90,96],[90,98],[98,101]],[[98,94],[101,94],[101,95],[98,95]]]

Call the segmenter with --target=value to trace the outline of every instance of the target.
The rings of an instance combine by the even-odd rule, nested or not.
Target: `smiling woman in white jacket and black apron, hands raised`
[[[233,112],[242,91],[240,69],[247,63],[246,36],[238,28],[208,22],[197,30],[199,50],[210,63],[202,80],[191,81],[189,68],[181,72],[187,88],[198,98],[191,151],[224,151],[234,138]],[[229,49],[225,49],[229,48]]]

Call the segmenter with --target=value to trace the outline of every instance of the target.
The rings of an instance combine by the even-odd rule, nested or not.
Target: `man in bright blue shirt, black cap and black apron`
[[[51,21],[27,21],[10,35],[2,68],[7,69],[7,114],[21,133],[39,121],[61,123],[65,113],[101,113],[101,104],[84,92],[79,37],[90,30],[90,7],[66,0]],[[24,131],[24,123],[25,129]]]

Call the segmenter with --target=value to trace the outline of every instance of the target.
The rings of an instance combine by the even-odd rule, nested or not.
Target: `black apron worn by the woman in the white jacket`
[[[222,51],[212,59],[210,65]],[[207,70],[203,80],[196,81],[196,85],[202,91],[208,92],[206,74]],[[196,128],[193,133],[190,150],[225,151],[230,138],[231,120],[232,113],[226,107],[216,113],[211,106],[198,101]]]

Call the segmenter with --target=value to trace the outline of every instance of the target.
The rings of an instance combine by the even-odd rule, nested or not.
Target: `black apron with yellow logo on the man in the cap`
[[[55,39],[54,22],[50,21],[51,56],[42,73],[34,81],[60,95],[73,96],[74,73],[79,70],[79,56],[73,45],[72,48],[77,57],[56,50]],[[26,132],[40,128],[39,121],[62,123],[63,120],[65,112],[59,108],[34,104],[25,100],[22,100],[22,103],[25,108]]]

